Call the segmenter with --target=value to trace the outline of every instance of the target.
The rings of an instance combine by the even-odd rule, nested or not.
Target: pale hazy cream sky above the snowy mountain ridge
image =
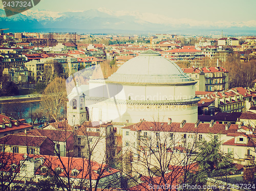
[[[255,0],[41,0],[32,10],[53,12],[85,11],[106,9],[106,11],[155,13],[173,18],[201,20],[248,21],[256,19]]]

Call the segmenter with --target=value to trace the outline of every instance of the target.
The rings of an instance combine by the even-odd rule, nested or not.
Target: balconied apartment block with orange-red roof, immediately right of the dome
[[[228,88],[228,70],[221,66],[183,68],[183,71],[197,81],[196,91],[218,91]]]

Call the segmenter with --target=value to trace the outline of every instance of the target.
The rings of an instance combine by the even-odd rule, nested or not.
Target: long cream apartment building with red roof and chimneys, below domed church
[[[176,153],[175,160],[182,160],[184,152],[189,151],[191,153],[195,149],[195,141],[216,138],[222,142],[228,142],[243,136],[245,137],[243,140],[238,138],[240,141],[238,144],[244,144],[245,139],[249,140],[249,137],[253,136],[254,133],[254,129],[245,127],[243,123],[218,124],[213,120],[208,124],[203,124],[199,121],[186,123],[185,120],[181,123],[175,123],[172,122],[171,118],[169,118],[168,123],[141,121],[137,124],[123,127],[122,131],[123,155],[130,153],[132,168],[142,175],[145,171],[137,163],[144,161],[145,158],[148,159],[147,156],[151,158],[150,165],[157,166],[159,161],[154,156],[156,157],[158,153],[165,151],[166,155],[164,157],[166,158],[174,157],[173,154]],[[233,155],[236,156],[234,157],[234,162],[236,163],[249,164],[251,162],[251,159],[245,157],[245,155],[248,155],[246,146],[241,147],[238,152],[232,151],[230,145],[223,144],[221,150],[225,153],[233,152]],[[254,156],[255,153],[250,152],[250,155]],[[178,158],[178,156],[181,158]],[[168,161],[172,161],[172,158],[169,158]],[[189,162],[187,165],[189,165]],[[131,168],[127,168],[127,171],[129,170]]]

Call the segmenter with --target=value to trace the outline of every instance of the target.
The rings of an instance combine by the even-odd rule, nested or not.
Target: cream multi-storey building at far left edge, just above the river
[[[3,70],[3,75],[9,77],[9,81],[16,84],[23,84],[28,82],[28,68],[24,66],[19,67],[9,67]]]

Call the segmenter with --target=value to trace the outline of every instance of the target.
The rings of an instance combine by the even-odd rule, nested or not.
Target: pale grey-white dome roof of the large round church
[[[192,81],[181,68],[158,52],[147,50],[125,62],[108,80],[116,83],[173,84]]]

